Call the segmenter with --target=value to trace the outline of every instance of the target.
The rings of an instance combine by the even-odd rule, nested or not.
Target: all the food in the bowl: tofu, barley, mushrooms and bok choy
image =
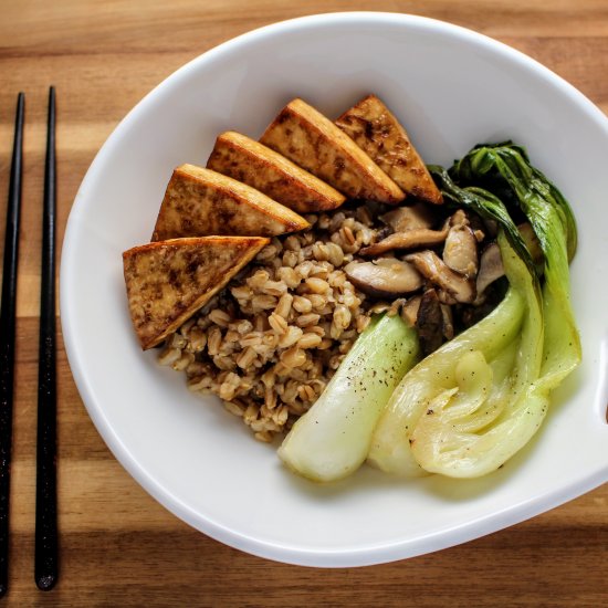
[[[524,148],[427,166],[368,95],[334,122],[296,98],[259,140],[220,134],[123,264],[141,348],[258,440],[284,437],[290,470],[473,478],[525,445],[580,361],[576,244]]]

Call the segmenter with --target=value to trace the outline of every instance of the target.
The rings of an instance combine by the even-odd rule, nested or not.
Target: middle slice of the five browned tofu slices
[[[298,213],[327,211],[345,201],[344,195],[281,154],[231,130],[216,140],[207,168],[242,181]]]

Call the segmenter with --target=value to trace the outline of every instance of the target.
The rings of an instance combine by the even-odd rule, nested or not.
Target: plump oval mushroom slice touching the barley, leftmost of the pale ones
[[[353,261],[344,271],[356,287],[374,297],[396,297],[411,293],[423,283],[415,266],[395,258],[381,258],[374,262]]]

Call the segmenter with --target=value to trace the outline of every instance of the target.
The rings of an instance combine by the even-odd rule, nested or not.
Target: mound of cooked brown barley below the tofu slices
[[[260,441],[314,403],[370,318],[344,266],[376,241],[373,216],[364,206],[308,221],[311,230],[273,238],[159,355],[184,370],[190,390],[219,396]]]

